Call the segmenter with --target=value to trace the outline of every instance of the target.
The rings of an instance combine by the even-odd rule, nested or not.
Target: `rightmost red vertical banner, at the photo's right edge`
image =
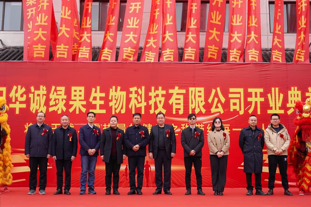
[[[297,34],[296,47],[293,62],[309,61],[309,21],[310,21],[310,1],[297,0]]]

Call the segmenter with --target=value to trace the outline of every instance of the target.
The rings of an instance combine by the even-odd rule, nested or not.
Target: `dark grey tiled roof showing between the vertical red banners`
[[[0,61],[22,61],[23,60],[23,47],[14,46],[3,46],[0,48]],[[183,59],[183,48],[178,49],[179,62]],[[203,62],[204,49],[200,48],[200,62]],[[286,62],[293,62],[294,49],[285,49]],[[92,50],[92,61],[97,61],[100,54],[100,47],[93,47]],[[116,61],[118,60],[119,48],[116,48]],[[138,52],[138,61],[140,60],[142,54],[142,48]],[[262,60],[263,62],[270,62],[271,49],[262,49]],[[52,52],[50,50],[50,59],[52,58]],[[222,50],[221,62],[226,62],[227,59],[227,49]],[[309,55],[311,62],[311,55]]]

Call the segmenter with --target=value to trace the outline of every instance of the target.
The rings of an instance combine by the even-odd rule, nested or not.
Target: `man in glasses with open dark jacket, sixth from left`
[[[164,123],[164,113],[157,113],[156,120],[158,125],[151,127],[148,146],[149,159],[155,159],[156,191],[153,195],[161,194],[162,187],[165,194],[172,195],[169,190],[171,189],[172,158],[176,153],[175,131],[172,125]],[[164,173],[164,184],[162,173]]]

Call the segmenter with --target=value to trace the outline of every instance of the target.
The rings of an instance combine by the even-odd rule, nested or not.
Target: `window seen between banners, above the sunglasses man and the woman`
[[[208,1],[201,1],[200,32],[206,32]],[[176,25],[178,32],[186,31],[188,1],[176,1]],[[229,29],[229,2],[226,3],[225,32]]]

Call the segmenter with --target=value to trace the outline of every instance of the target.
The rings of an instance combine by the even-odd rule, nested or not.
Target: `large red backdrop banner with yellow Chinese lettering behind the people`
[[[293,134],[295,101],[311,96],[309,77],[304,75],[309,73],[310,65],[305,63],[0,62],[0,67],[0,96],[6,97],[10,108],[12,186],[28,186],[29,163],[24,143],[37,112],[46,113],[46,123],[53,129],[60,126],[60,117],[67,114],[71,126],[78,131],[86,124],[89,111],[96,113],[95,124],[101,129],[109,127],[112,114],[117,115],[118,127],[123,130],[132,124],[134,112],[142,113],[142,124],[150,130],[156,124],[156,113],[161,111],[165,113],[165,123],[173,124],[177,138],[172,187],[185,186],[180,136],[181,130],[188,126],[189,113],[197,114],[197,127],[204,131],[203,186],[211,187],[207,134],[213,118],[219,116],[231,142],[227,187],[245,187],[238,139],[241,128],[248,126],[250,114],[258,117],[258,127],[267,128],[270,114],[279,113],[281,123]],[[92,71],[89,76],[81,75],[89,71]],[[267,75],[271,71],[278,71],[277,78]],[[144,186],[154,187],[154,161],[148,157],[146,161],[151,172],[148,182],[144,179]],[[127,159],[121,165],[120,187],[128,187],[126,164]],[[266,148],[263,166],[262,183],[267,186]],[[80,186],[80,172],[77,155],[72,168],[73,187]],[[288,173],[290,184],[295,184],[290,169]],[[104,163],[98,157],[95,187],[105,186],[104,174]],[[277,174],[276,181],[280,179]],[[53,159],[49,159],[48,186],[56,186]],[[276,186],[281,184],[276,182]]]

